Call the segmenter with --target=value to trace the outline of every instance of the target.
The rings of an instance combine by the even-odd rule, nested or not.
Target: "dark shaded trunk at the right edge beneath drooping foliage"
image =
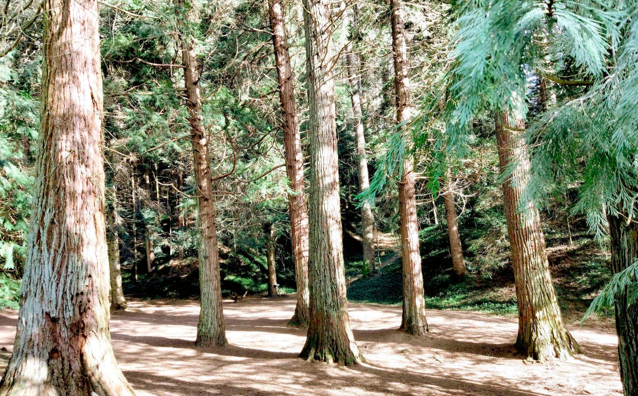
[[[638,223],[609,215],[611,270],[619,273],[638,259]],[[635,279],[634,279],[635,282]],[[638,304],[628,289],[614,296],[620,377],[626,396],[638,395]]]

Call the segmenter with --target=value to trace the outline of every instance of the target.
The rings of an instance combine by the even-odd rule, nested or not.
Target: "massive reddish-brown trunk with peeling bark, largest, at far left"
[[[45,1],[36,182],[2,396],[135,394],[108,330],[98,15],[96,0]]]

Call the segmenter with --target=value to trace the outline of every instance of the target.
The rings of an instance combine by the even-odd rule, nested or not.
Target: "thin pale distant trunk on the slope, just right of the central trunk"
[[[358,10],[353,5],[352,21],[350,29],[358,31]],[[351,40],[352,42],[352,40]],[[352,103],[352,113],[354,120],[354,133],[357,141],[357,162],[359,163],[359,191],[362,192],[370,187],[369,176],[367,174],[367,153],[366,135],[363,126],[363,112],[361,110],[361,72],[360,57],[353,50],[352,43],[348,45],[346,53],[346,65],[348,66],[348,82],[350,84],[350,102]],[[375,218],[372,214],[372,205],[365,201],[361,206],[361,234],[363,240],[363,257],[372,271],[375,271]]]

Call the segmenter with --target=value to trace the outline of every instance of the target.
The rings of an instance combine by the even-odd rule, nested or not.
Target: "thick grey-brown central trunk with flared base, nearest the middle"
[[[339,204],[332,21],[327,0],[304,0],[310,141],[310,321],[301,358],[359,363],[346,299]]]

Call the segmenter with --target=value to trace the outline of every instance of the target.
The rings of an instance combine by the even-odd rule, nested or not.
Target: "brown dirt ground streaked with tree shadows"
[[[293,296],[226,301],[230,346],[193,347],[196,301],[131,303],[115,314],[117,361],[139,396],[195,395],[621,395],[612,329],[571,326],[585,355],[524,362],[513,354],[514,317],[429,310],[431,332],[399,333],[401,307],[351,304],[367,363],[339,367],[297,358],[306,332],[286,326]],[[15,311],[0,312],[0,348],[11,351]],[[9,352],[0,352],[4,370]]]

